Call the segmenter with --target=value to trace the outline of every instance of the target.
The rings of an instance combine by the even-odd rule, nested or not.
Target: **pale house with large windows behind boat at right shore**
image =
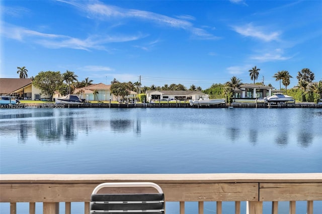
[[[263,98],[272,95],[274,87],[257,84],[241,84],[239,88],[234,88],[236,98]]]

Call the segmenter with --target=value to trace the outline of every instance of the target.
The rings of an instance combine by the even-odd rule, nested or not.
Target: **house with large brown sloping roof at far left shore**
[[[30,100],[46,98],[41,94],[41,90],[32,84],[31,78],[0,78],[0,94]]]

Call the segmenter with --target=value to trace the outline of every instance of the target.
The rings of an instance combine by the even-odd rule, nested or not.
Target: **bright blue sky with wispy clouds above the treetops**
[[[237,76],[271,83],[302,68],[322,80],[322,1],[1,1],[2,78],[75,72],[202,89]]]

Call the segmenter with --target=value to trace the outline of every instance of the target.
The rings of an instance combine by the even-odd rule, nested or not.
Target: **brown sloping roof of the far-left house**
[[[31,78],[0,78],[0,94],[12,93],[31,82]]]

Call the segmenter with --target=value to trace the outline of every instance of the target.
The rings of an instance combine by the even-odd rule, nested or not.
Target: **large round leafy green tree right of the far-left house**
[[[32,82],[35,87],[52,100],[55,90],[62,85],[63,79],[59,71],[41,71]]]

